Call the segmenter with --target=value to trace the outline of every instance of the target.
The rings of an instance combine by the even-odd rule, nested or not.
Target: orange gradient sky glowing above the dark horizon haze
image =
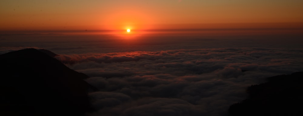
[[[1,0],[0,30],[148,30],[200,28],[195,24],[298,23],[303,22],[302,11],[302,0]]]

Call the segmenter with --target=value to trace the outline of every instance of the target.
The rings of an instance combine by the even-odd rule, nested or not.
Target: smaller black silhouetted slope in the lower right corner
[[[231,116],[302,116],[303,72],[269,77],[247,89],[249,98],[231,105]]]

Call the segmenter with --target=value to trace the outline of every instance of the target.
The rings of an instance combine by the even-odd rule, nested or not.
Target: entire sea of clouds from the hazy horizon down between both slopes
[[[26,48],[90,77],[89,116],[225,116],[248,86],[303,69],[301,35],[0,36],[0,54]]]

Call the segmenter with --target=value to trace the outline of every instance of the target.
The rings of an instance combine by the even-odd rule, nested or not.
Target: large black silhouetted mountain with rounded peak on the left
[[[36,49],[0,55],[0,115],[83,115],[90,111],[85,74]]]

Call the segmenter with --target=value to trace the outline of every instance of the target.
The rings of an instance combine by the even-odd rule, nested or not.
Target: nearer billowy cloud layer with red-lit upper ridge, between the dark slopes
[[[226,115],[245,88],[303,69],[303,49],[221,48],[60,55],[100,89],[88,115]]]

